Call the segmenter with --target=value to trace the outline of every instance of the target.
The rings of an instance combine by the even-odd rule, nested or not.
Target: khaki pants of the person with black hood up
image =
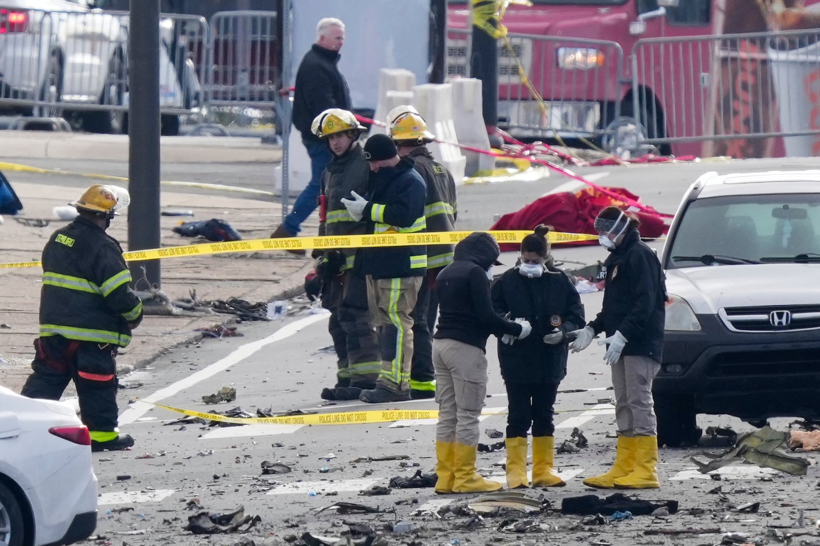
[[[433,366],[439,403],[436,441],[477,445],[478,420],[487,394],[487,356],[474,345],[434,339]]]

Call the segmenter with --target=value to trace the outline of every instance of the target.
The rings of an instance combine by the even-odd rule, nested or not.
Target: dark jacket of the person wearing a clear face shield
[[[666,280],[658,257],[633,230],[604,262],[604,305],[590,322],[596,334],[626,338],[622,356],[663,357]]]

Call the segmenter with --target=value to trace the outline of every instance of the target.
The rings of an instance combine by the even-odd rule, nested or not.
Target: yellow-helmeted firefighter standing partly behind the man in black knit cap
[[[458,213],[453,175],[436,162],[426,144],[435,139],[426,121],[408,105],[395,107],[387,114],[388,133],[396,143],[400,157],[413,162],[413,168],[424,179],[427,198],[424,213],[427,231],[454,231]],[[412,398],[435,396],[432,332],[439,303],[435,297],[435,277],[453,262],[453,245],[427,246],[427,275],[421,284],[413,310],[413,357],[410,371]]]

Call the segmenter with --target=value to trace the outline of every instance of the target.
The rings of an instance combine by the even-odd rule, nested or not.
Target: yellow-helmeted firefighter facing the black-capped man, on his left
[[[320,235],[367,233],[367,223],[353,220],[340,201],[352,191],[369,194],[370,166],[358,142],[363,130],[353,113],[340,108],[329,108],[313,120],[313,134],[333,152],[320,178]],[[315,256],[323,284],[321,303],[330,310],[328,330],[338,358],[335,386],[321,391],[326,400],[358,399],[362,389],[376,387],[381,369],[378,339],[367,310],[367,282],[353,271],[355,254],[355,248],[340,248]]]

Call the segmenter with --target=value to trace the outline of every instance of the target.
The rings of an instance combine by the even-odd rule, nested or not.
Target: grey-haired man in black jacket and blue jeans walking
[[[314,43],[296,72],[294,91],[294,127],[302,134],[302,143],[307,148],[311,161],[311,180],[299,193],[294,208],[285,221],[271,234],[271,238],[294,237],[300,225],[316,210],[319,198],[321,173],[333,159],[333,154],[311,132],[316,116],[328,108],[350,110],[350,89],[339,72],[339,50],[344,44],[344,23],[339,19],[326,18],[317,25],[317,41]],[[304,251],[294,251],[303,254]]]

